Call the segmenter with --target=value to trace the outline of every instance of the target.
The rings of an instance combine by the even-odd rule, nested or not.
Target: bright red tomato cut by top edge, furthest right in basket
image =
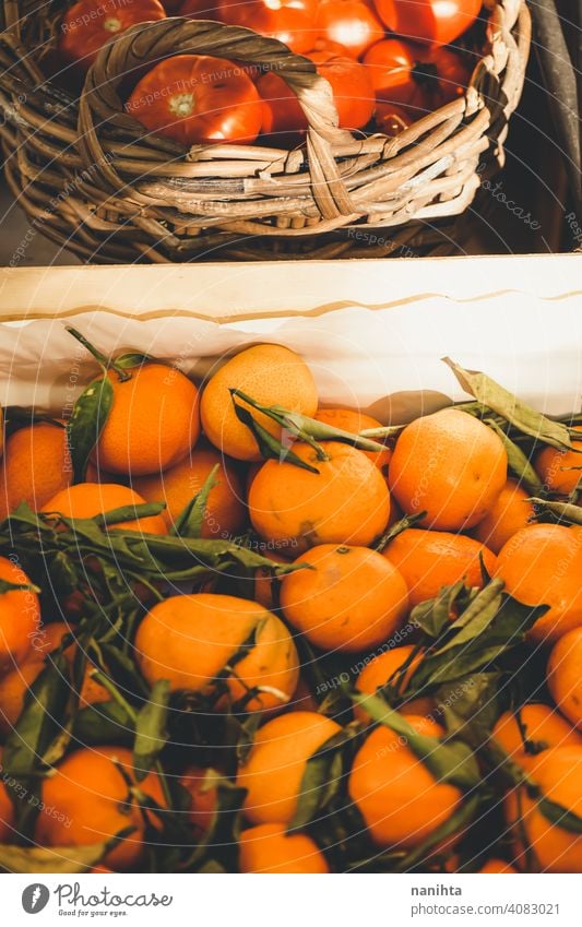
[[[391,32],[413,41],[448,45],[477,17],[482,0],[375,0]]]

